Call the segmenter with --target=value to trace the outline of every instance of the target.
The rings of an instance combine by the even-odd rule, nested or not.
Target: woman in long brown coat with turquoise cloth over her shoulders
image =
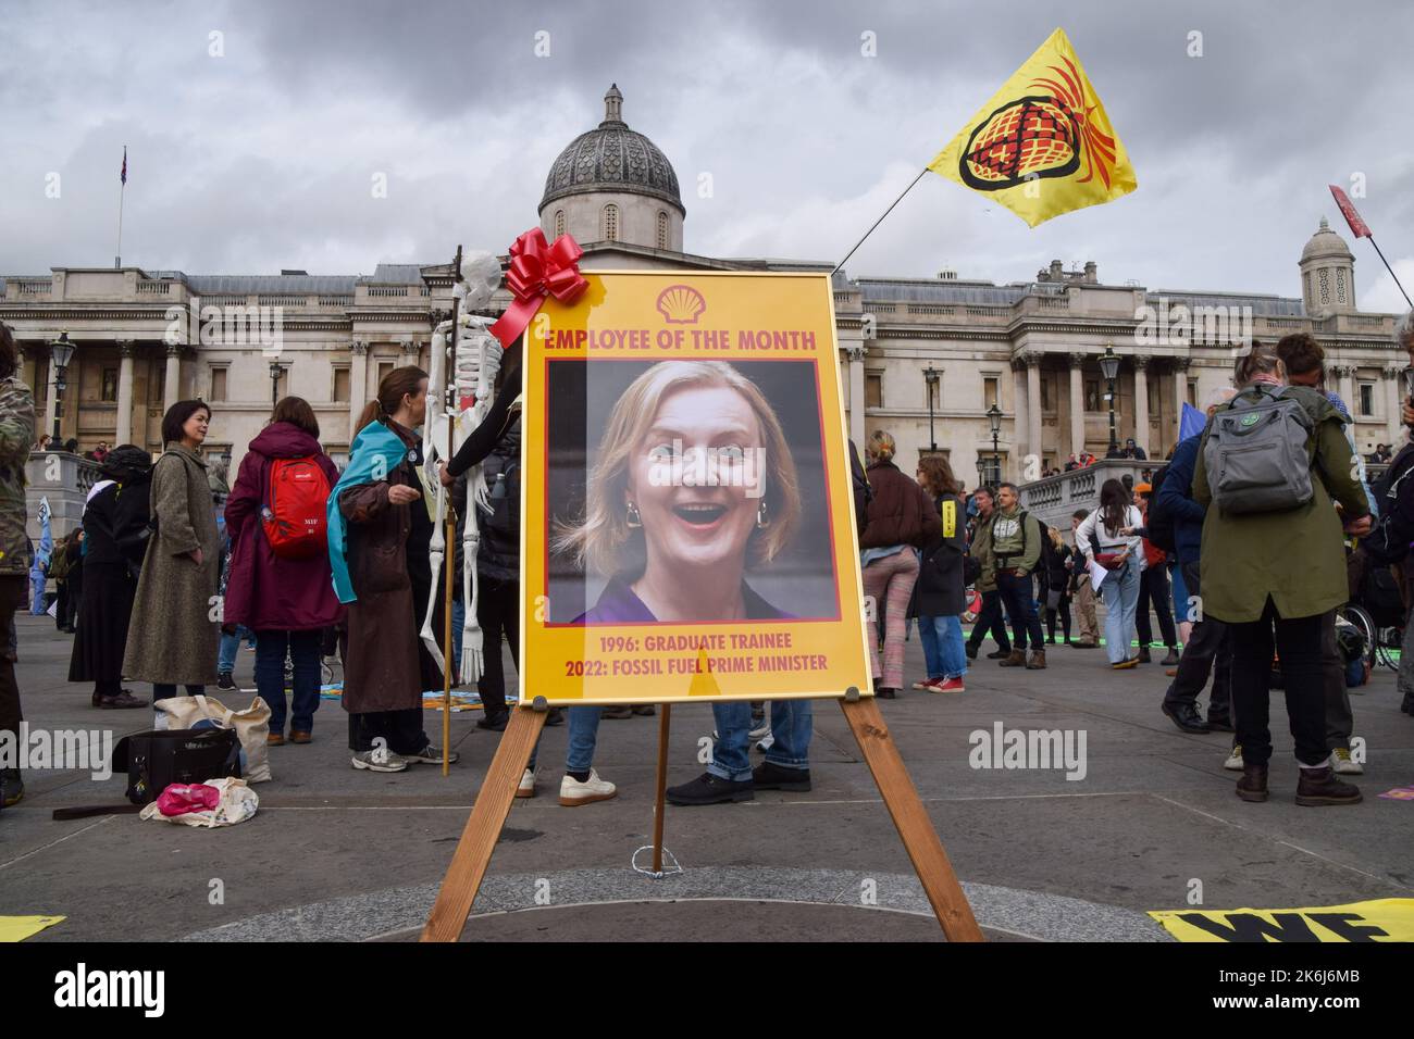
[[[355,769],[402,772],[411,762],[443,761],[423,731],[423,690],[440,688],[443,676],[417,636],[431,581],[431,517],[413,430],[426,417],[427,373],[389,372],[359,417],[349,465],[329,495],[334,588],[349,608],[341,650]]]

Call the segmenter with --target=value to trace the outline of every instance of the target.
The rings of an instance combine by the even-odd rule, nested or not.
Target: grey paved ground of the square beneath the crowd
[[[72,642],[51,621],[21,618],[18,628],[33,727],[103,728],[115,738],[148,727],[147,711],[96,711],[89,688],[65,681]],[[513,674],[509,654],[506,663]],[[1398,711],[1393,673],[1353,694],[1356,732],[1369,746],[1356,780],[1365,803],[1302,809],[1292,800],[1297,768],[1280,694],[1273,799],[1247,804],[1222,768],[1230,736],[1185,735],[1159,714],[1168,681],[1159,664],[1113,673],[1103,652],[1063,646],[1049,663],[1022,671],[978,660],[962,695],[905,691],[881,703],[994,937],[1164,940],[1143,913],[1184,908],[1193,879],[1209,908],[1414,895],[1414,803],[1376,797],[1414,783],[1414,718]],[[252,667],[253,654],[242,652],[236,680],[246,688]],[[916,639],[908,674],[922,676]],[[349,766],[345,715],[324,703],[314,744],[271,749],[274,779],[256,787],[259,816],[216,831],[136,816],[54,821],[59,806],[122,802],[123,780],[27,773],[25,800],[0,813],[0,915],[68,917],[34,941],[406,939],[426,916],[496,746],[475,717],[454,715],[461,762],[448,779],[433,766],[375,775]],[[997,722],[1083,732],[1085,777],[971,768],[970,734]],[[428,731],[440,725],[428,712]],[[674,707],[672,782],[700,772],[699,739],[711,728],[708,707]],[[619,797],[564,809],[554,765],[566,729],[546,731],[540,796],[512,809],[467,940],[937,937],[833,703],[816,704],[814,789],[670,807],[666,845],[684,872],[660,881],[631,865],[650,840],[656,739],[655,718],[602,722],[595,766]]]

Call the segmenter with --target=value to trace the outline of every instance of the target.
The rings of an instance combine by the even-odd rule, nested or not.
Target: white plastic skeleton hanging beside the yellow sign
[[[447,563],[447,510],[450,488],[436,478],[438,459],[447,457],[447,428],[451,424],[452,454],[462,445],[491,411],[495,396],[496,373],[501,370],[502,346],[488,331],[493,318],[484,318],[469,311],[481,310],[491,303],[491,295],[501,287],[501,262],[491,253],[468,253],[461,263],[462,280],[452,288],[457,301],[457,334],[452,322],[443,321],[433,332],[431,372],[427,380],[427,420],[423,424],[423,472],[437,488],[437,509],[433,517],[430,544],[433,587],[427,599],[421,639],[428,653],[444,669],[437,632],[433,629],[433,614],[443,595],[443,565]],[[455,342],[455,355],[452,344]],[[477,548],[481,544],[481,527],[477,510],[491,512],[486,481],[481,464],[467,471],[467,516],[462,527],[461,589],[465,605],[465,621],[461,628],[461,671],[462,683],[481,677],[485,660],[482,656],[481,625],[477,623]],[[455,560],[455,553],[451,553]],[[448,647],[450,649],[450,647]]]

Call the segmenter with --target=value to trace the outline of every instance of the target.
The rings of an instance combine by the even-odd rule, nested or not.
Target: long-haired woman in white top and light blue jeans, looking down
[[[1110,667],[1117,671],[1140,662],[1138,656],[1130,656],[1130,640],[1145,560],[1143,539],[1130,532],[1141,526],[1144,519],[1131,503],[1130,492],[1120,481],[1107,479],[1100,488],[1100,507],[1086,516],[1075,532],[1076,547],[1085,553],[1090,573],[1096,568],[1104,571],[1100,585],[1104,594],[1104,652]]]

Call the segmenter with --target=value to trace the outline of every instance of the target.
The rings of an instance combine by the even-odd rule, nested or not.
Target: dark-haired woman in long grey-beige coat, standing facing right
[[[206,440],[211,409],[181,400],[163,417],[165,451],[153,466],[151,516],[156,530],[137,580],[127,630],[123,674],[153,683],[153,703],[189,695],[216,681],[221,629],[215,616],[221,537],[211,503]]]

